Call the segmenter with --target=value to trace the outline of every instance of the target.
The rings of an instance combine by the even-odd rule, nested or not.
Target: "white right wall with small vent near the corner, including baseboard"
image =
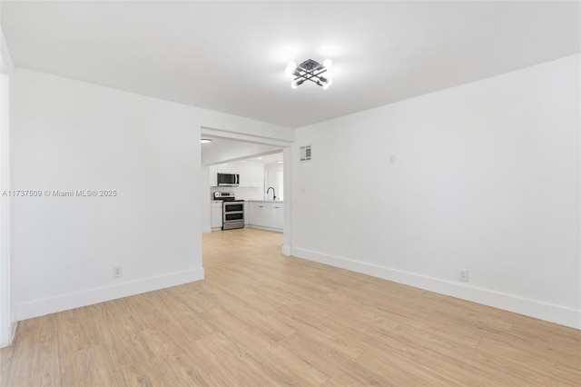
[[[579,104],[574,55],[298,129],[292,253],[581,328]]]

